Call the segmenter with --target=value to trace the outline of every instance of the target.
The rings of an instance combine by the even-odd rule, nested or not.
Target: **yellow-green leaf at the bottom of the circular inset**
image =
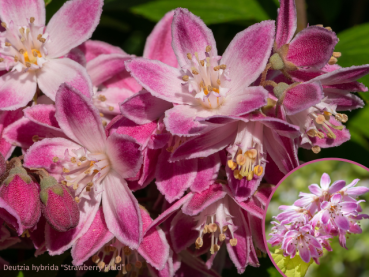
[[[309,266],[313,263],[313,260],[310,260],[309,263],[305,263],[299,254],[296,254],[293,259],[284,257],[283,250],[281,249],[275,250],[272,257],[277,266],[287,277],[304,277]]]

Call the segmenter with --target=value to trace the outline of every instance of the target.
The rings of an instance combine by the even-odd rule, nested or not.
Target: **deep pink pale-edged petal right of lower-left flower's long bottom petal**
[[[148,212],[141,209],[142,229],[145,233],[152,223]],[[149,230],[138,248],[140,255],[157,270],[164,269],[169,259],[169,244],[165,238],[164,232],[156,227]]]

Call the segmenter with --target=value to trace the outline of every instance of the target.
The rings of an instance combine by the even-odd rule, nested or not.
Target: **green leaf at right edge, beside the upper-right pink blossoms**
[[[338,59],[338,64],[343,67],[352,65],[369,64],[369,23],[355,26],[338,34],[340,41],[335,51],[342,53]],[[359,80],[369,86],[369,76]],[[365,100],[369,101],[369,94],[360,94]]]

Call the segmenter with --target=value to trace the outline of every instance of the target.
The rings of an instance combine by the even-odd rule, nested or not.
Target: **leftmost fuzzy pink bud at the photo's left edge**
[[[23,229],[34,227],[41,216],[40,188],[27,171],[16,166],[0,187],[0,197],[19,215]]]

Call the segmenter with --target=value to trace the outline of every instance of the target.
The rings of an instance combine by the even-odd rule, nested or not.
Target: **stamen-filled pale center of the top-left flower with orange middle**
[[[26,26],[1,23],[6,31],[0,48],[0,62],[5,62],[7,67],[14,66],[17,71],[38,69],[46,62],[44,43],[48,34],[44,33],[44,26],[36,26],[34,21],[35,18],[31,17]]]

